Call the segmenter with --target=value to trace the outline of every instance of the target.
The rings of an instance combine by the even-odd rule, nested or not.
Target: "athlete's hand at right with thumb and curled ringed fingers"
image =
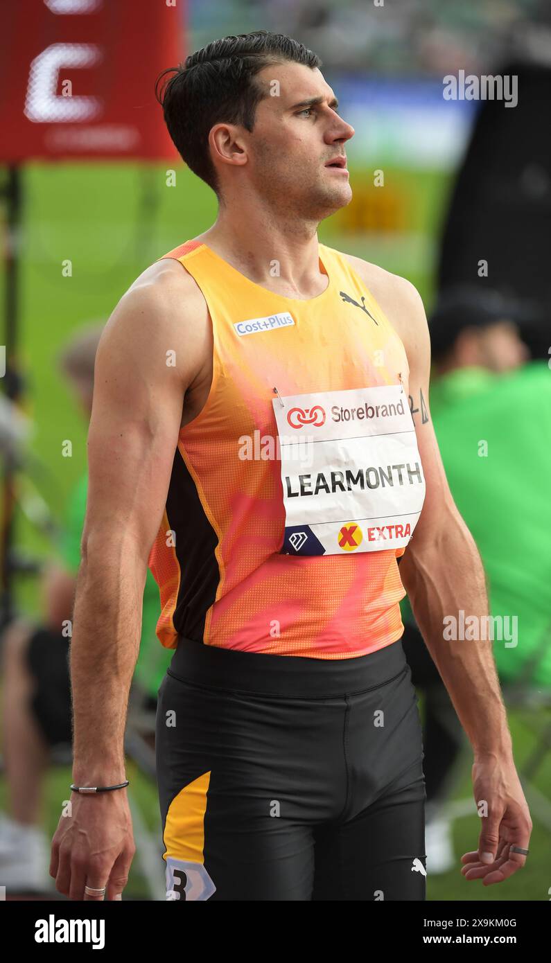
[[[502,883],[526,863],[526,856],[510,854],[509,849],[528,849],[532,820],[512,756],[475,759],[472,779],[477,807],[485,800],[488,813],[482,817],[478,849],[461,856],[461,873],[465,879],[482,879],[483,886],[491,886]]]

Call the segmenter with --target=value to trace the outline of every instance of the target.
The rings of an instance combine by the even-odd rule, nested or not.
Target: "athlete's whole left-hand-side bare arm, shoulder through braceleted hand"
[[[98,346],[70,659],[77,786],[125,778],[147,560],[166,505],[184,394],[204,356],[201,311],[204,300],[181,265],[155,265],[120,300]],[[167,351],[175,351],[175,366]],[[101,898],[86,895],[85,885],[107,887],[108,899],[121,898],[135,851],[126,791],[73,793],[70,801],[52,843],[57,889],[82,899]]]

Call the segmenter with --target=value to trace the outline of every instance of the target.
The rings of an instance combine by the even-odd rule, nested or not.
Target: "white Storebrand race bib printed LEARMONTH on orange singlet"
[[[425,478],[402,385],[273,399],[285,555],[404,548]]]

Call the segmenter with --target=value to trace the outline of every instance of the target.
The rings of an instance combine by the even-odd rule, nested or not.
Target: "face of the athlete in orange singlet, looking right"
[[[256,80],[268,95],[246,138],[250,187],[299,218],[322,220],[350,203],[346,142],[354,127],[339,117],[320,70],[275,65]]]

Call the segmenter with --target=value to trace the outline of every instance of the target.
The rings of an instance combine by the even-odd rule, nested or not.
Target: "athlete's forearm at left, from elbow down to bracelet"
[[[131,561],[122,562],[123,556]],[[106,561],[96,546],[78,575],[70,647],[73,781],[124,779],[128,693],[142,632],[145,568],[128,549]]]

